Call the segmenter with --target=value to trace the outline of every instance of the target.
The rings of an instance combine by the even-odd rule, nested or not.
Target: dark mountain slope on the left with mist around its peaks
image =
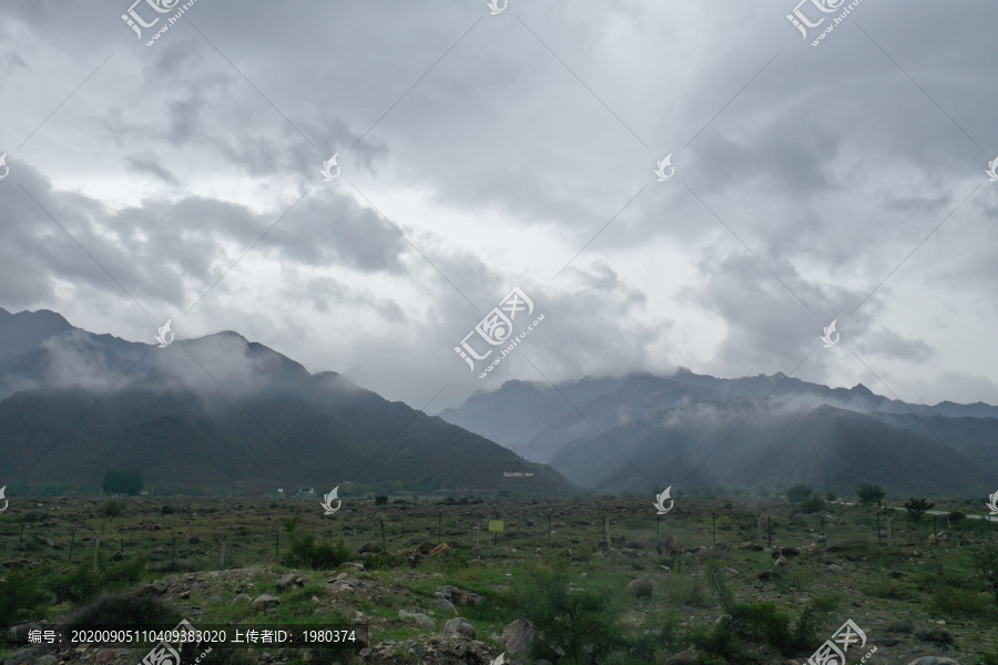
[[[99,487],[141,468],[161,491],[273,492],[345,482],[572,491],[486,438],[233,331],[165,348],[0,309],[0,478]],[[503,471],[529,471],[510,479]]]

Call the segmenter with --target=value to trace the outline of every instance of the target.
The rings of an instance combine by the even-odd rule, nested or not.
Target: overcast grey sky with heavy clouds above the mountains
[[[817,47],[841,0],[806,39],[795,0],[130,1],[0,6],[8,310],[236,330],[429,412],[678,366],[998,403],[986,0]],[[479,379],[455,347],[515,287],[544,318]]]

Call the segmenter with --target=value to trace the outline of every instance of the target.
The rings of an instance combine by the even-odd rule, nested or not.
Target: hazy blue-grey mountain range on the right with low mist
[[[599,492],[804,483],[852,494],[876,483],[971,497],[998,487],[998,408],[909,405],[782,374],[510,381],[440,417],[483,436],[517,422],[495,440]]]

